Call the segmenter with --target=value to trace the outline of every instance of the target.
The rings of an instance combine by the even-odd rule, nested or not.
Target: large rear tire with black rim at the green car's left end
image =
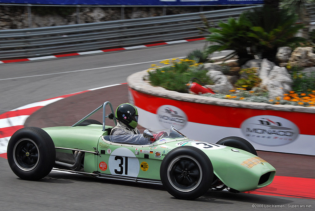
[[[10,168],[23,180],[39,180],[47,176],[54,166],[54,142],[41,128],[26,127],[16,131],[7,149]]]

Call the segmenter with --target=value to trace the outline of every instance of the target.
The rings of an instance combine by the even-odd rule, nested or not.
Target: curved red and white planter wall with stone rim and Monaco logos
[[[141,71],[127,78],[139,124],[152,131],[178,128],[187,137],[216,143],[242,137],[256,150],[315,155],[315,107],[271,105],[178,93],[153,87]]]

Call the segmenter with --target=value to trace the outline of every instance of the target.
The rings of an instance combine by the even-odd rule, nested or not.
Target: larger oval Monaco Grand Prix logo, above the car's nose
[[[269,115],[250,117],[242,123],[241,129],[249,140],[264,146],[289,144],[300,133],[293,122]]]

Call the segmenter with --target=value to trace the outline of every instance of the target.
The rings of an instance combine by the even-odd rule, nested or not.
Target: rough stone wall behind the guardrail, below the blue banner
[[[203,7],[202,11],[226,9],[237,6]],[[199,12],[200,7],[165,7],[166,15]],[[31,7],[31,28],[63,26],[77,23],[93,23],[121,20],[121,7]],[[154,17],[163,15],[163,7],[125,7],[124,19]],[[79,20],[78,20],[79,17]],[[78,20],[78,21],[77,21]],[[27,6],[0,5],[0,30],[29,28]]]

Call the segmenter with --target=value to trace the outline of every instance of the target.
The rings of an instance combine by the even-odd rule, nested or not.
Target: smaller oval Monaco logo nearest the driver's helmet
[[[180,108],[170,105],[163,105],[157,109],[158,122],[164,128],[170,128],[172,125],[181,129],[185,127],[187,123],[187,116]]]

